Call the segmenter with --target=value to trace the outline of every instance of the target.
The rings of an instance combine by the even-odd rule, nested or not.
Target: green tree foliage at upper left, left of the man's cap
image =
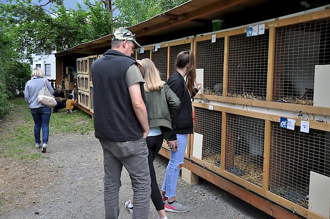
[[[35,51],[39,44],[43,51],[61,51],[80,43],[95,40],[110,33],[110,15],[102,2],[92,5],[84,0],[87,10],[77,3],[77,10],[66,10],[62,1],[49,11],[31,0],[18,0],[15,4],[0,5],[0,19],[7,25],[17,26],[17,44]]]

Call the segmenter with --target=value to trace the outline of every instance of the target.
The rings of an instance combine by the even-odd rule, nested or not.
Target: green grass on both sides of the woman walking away
[[[11,100],[13,116],[4,121],[0,128],[0,156],[32,160],[42,158],[35,153],[34,120],[24,98]],[[57,114],[51,114],[49,122],[49,138],[54,134],[79,133],[88,134],[94,129],[91,117],[78,110],[73,114],[61,109]],[[42,138],[42,133],[41,133]],[[43,157],[49,158],[49,157]]]

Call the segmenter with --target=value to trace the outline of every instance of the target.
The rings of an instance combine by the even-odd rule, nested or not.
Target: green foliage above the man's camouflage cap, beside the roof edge
[[[185,2],[187,0],[114,0],[114,5],[120,11],[115,18],[115,25],[133,26]]]

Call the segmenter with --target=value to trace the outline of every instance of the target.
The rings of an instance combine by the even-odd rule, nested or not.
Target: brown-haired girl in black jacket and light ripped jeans
[[[189,208],[176,201],[176,188],[187,147],[187,137],[193,129],[191,98],[200,89],[200,84],[195,84],[196,69],[191,51],[180,52],[175,61],[175,66],[177,71],[170,77],[167,84],[180,98],[181,107],[179,114],[172,122],[173,131],[168,140],[171,159],[166,169],[161,194],[163,195],[166,211],[186,212]],[[184,77],[186,77],[186,81]]]

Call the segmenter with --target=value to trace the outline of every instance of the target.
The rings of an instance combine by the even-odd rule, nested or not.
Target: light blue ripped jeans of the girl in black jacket
[[[180,168],[178,166],[183,164],[184,154],[187,148],[187,134],[177,134],[178,151],[171,151],[171,159],[166,168],[164,182],[162,184],[162,191],[166,192],[165,196],[168,198],[176,196],[178,178]]]

